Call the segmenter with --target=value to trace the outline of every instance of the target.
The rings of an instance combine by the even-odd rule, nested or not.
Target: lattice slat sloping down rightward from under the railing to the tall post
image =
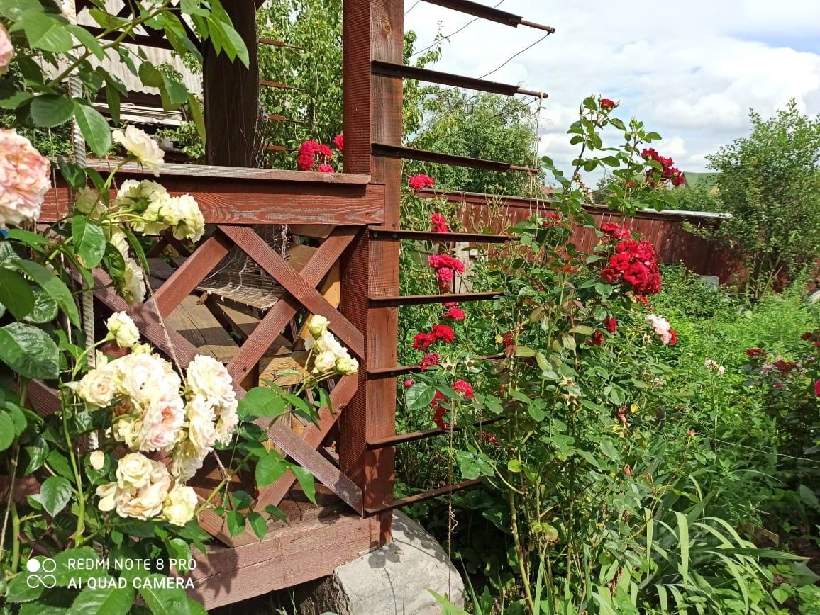
[[[353,354],[364,359],[362,332],[355,328],[353,323],[346,319],[339,310],[330,305],[321,292],[317,291],[315,284],[308,283],[262,237],[254,233],[252,228],[234,226],[220,228],[307,310],[310,310],[312,314],[321,314],[330,320],[330,330],[339,336],[339,339],[353,351]]]

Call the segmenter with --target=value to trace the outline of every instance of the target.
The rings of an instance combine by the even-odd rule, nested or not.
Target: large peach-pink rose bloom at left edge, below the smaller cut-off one
[[[0,129],[0,228],[39,218],[49,169],[27,138]]]

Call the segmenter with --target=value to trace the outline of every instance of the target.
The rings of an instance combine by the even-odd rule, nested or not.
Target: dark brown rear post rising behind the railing
[[[206,159],[209,165],[253,166],[259,143],[259,66],[257,62],[256,4],[253,0],[223,2],[234,29],[248,47],[248,68],[225,52],[216,55],[205,46],[203,93],[205,99]]]

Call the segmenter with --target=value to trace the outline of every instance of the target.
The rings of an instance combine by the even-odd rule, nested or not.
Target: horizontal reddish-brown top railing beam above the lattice
[[[384,187],[376,184],[206,179],[193,174],[162,177],[161,182],[172,195],[193,194],[207,224],[360,225],[381,224],[384,219]],[[71,192],[66,186],[52,188],[40,220],[59,219],[69,203]]]

